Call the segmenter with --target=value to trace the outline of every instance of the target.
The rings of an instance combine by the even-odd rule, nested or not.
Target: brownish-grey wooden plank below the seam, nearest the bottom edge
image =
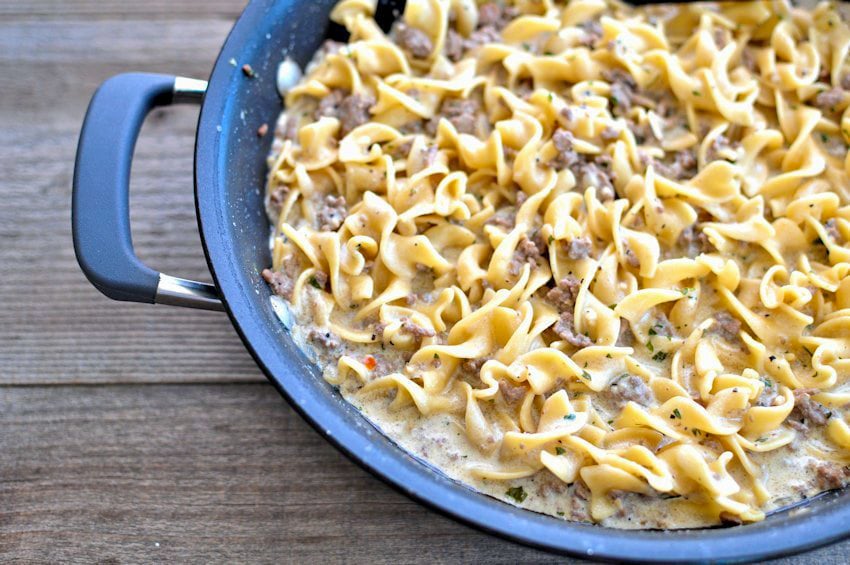
[[[6,388],[0,429],[4,561],[554,562],[387,488],[269,385]]]

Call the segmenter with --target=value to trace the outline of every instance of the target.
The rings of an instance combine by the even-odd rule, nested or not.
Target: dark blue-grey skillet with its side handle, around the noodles
[[[263,208],[266,155],[281,110],[275,88],[285,55],[302,67],[328,35],[333,0],[253,0],[203,81],[124,74],[106,81],[86,114],[73,192],[74,246],[89,280],[116,300],[225,310],[284,398],[328,441],[421,503],[493,535],[562,554],[641,562],[762,560],[850,534],[850,493],[818,496],[763,522],[682,531],[623,531],[529,512],[452,481],[393,444],[346,403],[293,345],[260,271],[269,264]],[[401,2],[382,2],[385,28]],[[253,77],[246,76],[248,64]],[[251,74],[251,73],[248,73]],[[130,239],[128,181],[142,121],[155,106],[202,105],[195,145],[198,225],[214,286],[153,271]]]

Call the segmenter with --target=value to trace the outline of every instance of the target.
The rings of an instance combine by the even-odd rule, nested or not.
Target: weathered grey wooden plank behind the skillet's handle
[[[72,9],[85,6],[61,4],[67,21],[0,19],[0,382],[262,381],[224,315],[113,302],[85,280],[71,245],[74,152],[94,89],[130,70],[204,77],[231,22],[171,19],[192,8],[180,2],[160,5],[162,21],[92,22]],[[149,117],[131,218],[143,260],[209,280],[192,195],[196,121],[194,107]]]

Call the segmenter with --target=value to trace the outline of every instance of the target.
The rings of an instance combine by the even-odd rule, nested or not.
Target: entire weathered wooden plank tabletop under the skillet
[[[205,78],[241,7],[0,4],[0,561],[555,561],[350,463],[266,383],[224,315],[112,302],[80,273],[71,174],[92,92],[129,70]],[[148,119],[133,236],[155,268],[208,280],[196,119]]]

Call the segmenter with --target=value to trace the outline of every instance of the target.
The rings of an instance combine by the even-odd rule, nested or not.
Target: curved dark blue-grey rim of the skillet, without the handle
[[[201,242],[225,311],[257,365],[304,420],[362,469],[416,502],[490,535],[561,555],[643,563],[747,562],[792,555],[850,536],[848,492],[820,497],[822,500],[764,522],[680,531],[617,530],[523,510],[436,473],[362,416],[360,425],[352,426],[339,403],[333,406],[335,400],[321,383],[312,382],[314,375],[297,367],[300,363],[295,359],[281,359],[285,357],[283,347],[275,343],[279,332],[274,335],[261,320],[259,306],[251,301],[252,297],[259,300],[255,294],[257,277],[251,280],[236,262],[236,249],[230,252],[234,226],[229,221],[228,206],[233,202],[226,198],[229,193],[222,165],[231,144],[244,144],[247,138],[239,138],[223,126],[236,121],[228,110],[235,112],[229,102],[231,91],[237,88],[234,83],[240,78],[231,59],[242,61],[243,53],[251,49],[262,52],[264,42],[258,30],[271,27],[271,16],[287,10],[297,13],[307,7],[309,3],[297,0],[251,0],[245,7],[224,42],[209,79],[198,119],[194,165]],[[286,363],[279,363],[278,359]]]

